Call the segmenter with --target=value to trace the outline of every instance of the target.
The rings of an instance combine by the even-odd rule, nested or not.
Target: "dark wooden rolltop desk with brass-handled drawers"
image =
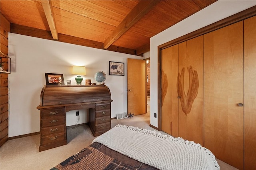
[[[89,109],[89,127],[94,136],[111,128],[111,94],[105,85],[44,86],[40,105],[39,152],[67,144],[66,112]]]

